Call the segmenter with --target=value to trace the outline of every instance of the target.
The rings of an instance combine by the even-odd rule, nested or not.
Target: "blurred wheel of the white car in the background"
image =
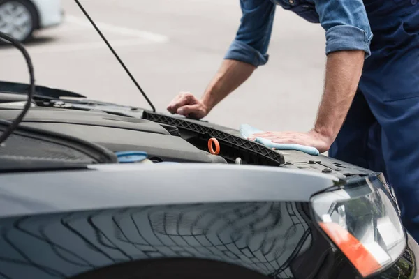
[[[7,18],[6,13],[8,14]],[[20,26],[11,22],[13,17],[17,16],[21,16],[21,20],[23,20]],[[0,0],[0,31],[24,43],[32,38],[37,28],[38,12],[29,0]]]

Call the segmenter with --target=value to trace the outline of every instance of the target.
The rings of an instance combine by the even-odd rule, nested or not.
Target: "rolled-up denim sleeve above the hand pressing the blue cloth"
[[[326,55],[339,50],[363,50],[371,55],[372,31],[362,0],[314,0],[326,31]]]

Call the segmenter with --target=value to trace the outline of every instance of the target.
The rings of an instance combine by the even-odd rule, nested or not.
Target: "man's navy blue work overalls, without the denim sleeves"
[[[329,156],[383,172],[419,241],[419,4],[365,0],[365,8],[372,54]]]

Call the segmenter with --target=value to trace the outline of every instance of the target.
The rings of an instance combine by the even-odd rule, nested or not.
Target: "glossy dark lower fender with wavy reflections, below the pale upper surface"
[[[309,216],[305,202],[239,202],[3,218],[0,278],[71,278],[173,258],[234,264],[267,278],[356,278]],[[411,278],[409,253],[376,278]]]

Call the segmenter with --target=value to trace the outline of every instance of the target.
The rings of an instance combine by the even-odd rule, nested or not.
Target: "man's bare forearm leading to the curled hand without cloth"
[[[201,99],[207,107],[207,112],[245,82],[255,69],[249,63],[225,59]]]

